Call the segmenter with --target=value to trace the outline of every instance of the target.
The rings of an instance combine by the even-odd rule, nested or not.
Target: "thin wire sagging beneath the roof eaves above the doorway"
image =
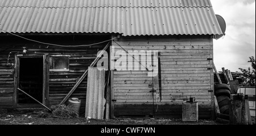
[[[2,31],[5,31],[3,29],[0,28],[0,30]],[[7,32],[7,31],[5,31]],[[7,33],[10,33],[10,32],[7,32]],[[11,35],[14,35],[14,36],[17,36],[17,37],[20,37],[22,39],[25,39],[25,40],[28,40],[28,41],[34,41],[34,42],[38,42],[40,44],[46,44],[46,45],[52,45],[52,46],[62,46],[62,47],[78,47],[78,46],[92,46],[92,45],[96,45],[96,44],[101,44],[103,42],[106,42],[106,41],[111,41],[113,39],[116,39],[117,37],[114,37],[113,39],[109,39],[109,40],[106,40],[106,41],[101,41],[101,42],[97,42],[97,43],[94,43],[94,44],[87,44],[87,45],[59,45],[59,44],[50,44],[50,43],[47,43],[47,42],[41,42],[41,41],[36,41],[36,40],[32,40],[32,39],[27,39],[25,37],[22,37],[22,36],[19,36],[19,35],[15,35],[14,33],[10,33]]]

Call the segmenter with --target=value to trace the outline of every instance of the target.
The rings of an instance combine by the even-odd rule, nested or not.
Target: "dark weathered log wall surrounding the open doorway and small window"
[[[85,45],[109,40],[110,36],[88,36],[88,35],[59,35],[59,36],[24,36],[30,39],[52,44],[61,45]],[[68,94],[75,85],[76,80],[84,73],[90,63],[96,58],[98,50],[104,48],[108,42],[92,46],[80,47],[61,47],[39,44],[20,39],[13,36],[1,36],[0,39],[0,108],[14,108],[14,66],[7,65],[14,63],[14,54],[22,52],[22,47],[26,46],[28,53],[48,53],[48,54],[67,54],[69,55],[69,71],[49,72],[49,105],[56,105]],[[86,79],[85,78],[71,97],[81,99],[81,110],[85,108],[86,98]]]

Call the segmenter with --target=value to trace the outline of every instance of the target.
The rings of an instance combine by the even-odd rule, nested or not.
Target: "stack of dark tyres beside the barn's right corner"
[[[220,113],[229,114],[230,87],[228,84],[216,84],[214,95],[217,97]]]

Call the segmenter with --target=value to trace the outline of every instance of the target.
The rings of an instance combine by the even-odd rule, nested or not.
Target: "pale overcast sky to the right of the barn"
[[[211,0],[215,14],[226,22],[226,35],[213,39],[213,60],[232,72],[247,69],[250,56],[255,57],[255,0]],[[251,67],[251,66],[250,66]]]

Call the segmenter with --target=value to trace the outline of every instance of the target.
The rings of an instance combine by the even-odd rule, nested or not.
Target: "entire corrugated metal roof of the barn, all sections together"
[[[209,0],[0,0],[0,6],[7,32],[222,34]]]

